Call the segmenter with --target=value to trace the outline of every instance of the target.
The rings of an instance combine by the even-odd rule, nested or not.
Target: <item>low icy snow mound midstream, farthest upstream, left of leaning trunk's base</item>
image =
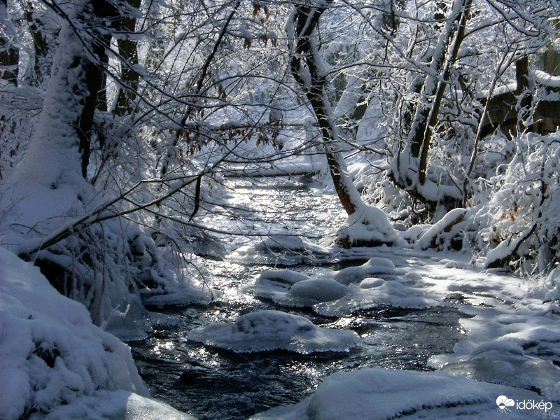
[[[331,251],[295,235],[274,236],[233,251],[229,260],[238,264],[297,265],[302,262],[324,261]]]

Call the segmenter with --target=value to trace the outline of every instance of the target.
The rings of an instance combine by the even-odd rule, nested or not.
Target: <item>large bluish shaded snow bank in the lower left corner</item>
[[[149,396],[130,348],[92,324],[31,263],[0,248],[0,418],[48,413],[103,391]]]

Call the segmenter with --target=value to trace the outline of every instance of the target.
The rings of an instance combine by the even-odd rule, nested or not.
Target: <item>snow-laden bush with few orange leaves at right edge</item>
[[[476,246],[488,250],[487,267],[548,270],[560,258],[560,132],[512,142],[512,160],[489,179],[488,200],[479,199]]]

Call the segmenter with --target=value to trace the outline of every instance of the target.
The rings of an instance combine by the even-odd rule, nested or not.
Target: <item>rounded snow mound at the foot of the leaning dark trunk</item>
[[[335,244],[343,248],[393,245],[399,240],[384,211],[368,205],[348,216],[335,236]]]

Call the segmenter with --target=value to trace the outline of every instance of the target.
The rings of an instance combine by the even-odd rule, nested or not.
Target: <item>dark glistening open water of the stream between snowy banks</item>
[[[248,210],[256,210],[250,212]],[[235,221],[229,217],[235,216]],[[237,181],[228,214],[207,215],[206,223],[239,234],[297,232],[324,237],[342,221],[336,197],[315,195],[312,188],[286,179]],[[255,237],[229,237],[228,249]],[[363,261],[352,262],[354,265]],[[390,367],[429,370],[428,357],[448,353],[463,337],[456,307],[422,310],[391,308],[359,311],[342,318],[326,318],[306,309],[283,309],[238,288],[255,278],[263,265],[239,265],[211,258],[197,258],[211,286],[221,288],[219,302],[202,306],[155,309],[170,316],[140,342],[131,342],[137,367],[153,397],[198,419],[246,419],[276,405],[294,403],[309,395],[322,379],[337,370],[356,367]],[[395,262],[395,265],[396,262]],[[321,274],[333,265],[290,267],[307,274]],[[233,321],[258,309],[280,309],[307,316],[316,325],[351,329],[363,344],[349,353],[314,353],[303,356],[288,351],[237,354],[189,342],[188,331],[216,321]]]

